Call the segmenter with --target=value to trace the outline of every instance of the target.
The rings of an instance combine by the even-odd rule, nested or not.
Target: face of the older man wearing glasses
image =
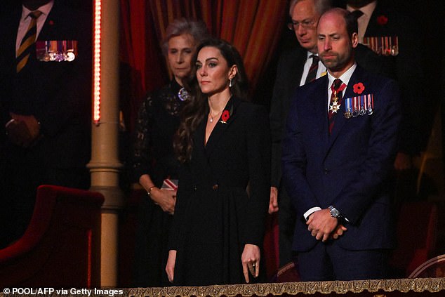
[[[314,1],[299,1],[293,7],[291,17],[293,30],[300,45],[311,53],[317,53],[317,22],[320,15],[315,10]]]

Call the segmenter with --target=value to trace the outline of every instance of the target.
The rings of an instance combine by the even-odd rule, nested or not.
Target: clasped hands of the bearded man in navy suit
[[[317,240],[326,242],[328,239],[338,239],[347,230],[345,226],[338,223],[337,218],[331,217],[329,209],[314,211],[306,222],[307,230]]]

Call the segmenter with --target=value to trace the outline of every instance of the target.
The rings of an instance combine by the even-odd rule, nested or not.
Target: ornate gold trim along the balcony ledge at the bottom
[[[129,297],[145,296],[281,296],[283,294],[296,295],[298,293],[361,293],[363,291],[400,291],[403,293],[430,292],[436,293],[445,290],[445,278],[425,279],[382,279],[361,281],[333,281],[333,282],[284,282],[274,284],[232,284],[215,286],[168,286],[164,288],[135,288],[127,289]]]

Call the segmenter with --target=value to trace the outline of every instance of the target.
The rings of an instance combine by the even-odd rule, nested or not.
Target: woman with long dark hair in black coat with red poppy
[[[244,65],[226,41],[205,41],[194,61],[193,98],[174,143],[182,167],[166,272],[182,286],[251,282],[264,272],[267,112],[242,100]]]

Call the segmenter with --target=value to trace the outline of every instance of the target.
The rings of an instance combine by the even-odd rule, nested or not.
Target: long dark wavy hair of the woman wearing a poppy
[[[246,70],[244,69],[243,59],[237,51],[237,48],[232,46],[223,39],[207,39],[199,44],[197,51],[192,60],[191,77],[184,82],[185,88],[191,93],[190,100],[183,107],[181,112],[181,123],[173,140],[173,149],[181,163],[190,160],[193,150],[193,133],[197,126],[203,121],[208,114],[207,95],[201,92],[197,79],[197,57],[202,48],[211,47],[218,48],[221,55],[225,58],[228,67],[237,65],[237,75],[232,79],[232,86],[230,93],[238,98],[246,98],[248,92],[248,79]]]

